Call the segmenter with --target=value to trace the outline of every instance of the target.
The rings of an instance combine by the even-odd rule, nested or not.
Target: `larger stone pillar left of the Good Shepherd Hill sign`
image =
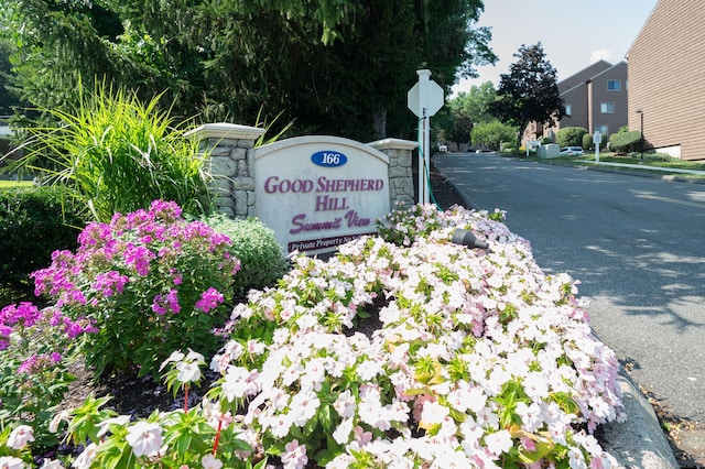
[[[208,155],[206,171],[213,176],[215,205],[234,218],[257,216],[254,196],[254,142],[265,129],[218,122],[186,132],[199,141]]]

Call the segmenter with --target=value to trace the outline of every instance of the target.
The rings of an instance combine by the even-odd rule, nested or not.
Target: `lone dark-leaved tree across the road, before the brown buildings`
[[[519,47],[517,62],[500,75],[497,100],[489,111],[519,128],[519,138],[529,122],[554,124],[565,114],[558,94],[557,74],[546,59],[541,43]]]

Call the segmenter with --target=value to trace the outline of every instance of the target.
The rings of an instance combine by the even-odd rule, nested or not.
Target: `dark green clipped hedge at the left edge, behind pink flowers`
[[[86,214],[64,187],[0,189],[0,285],[29,290],[54,250],[75,249]]]

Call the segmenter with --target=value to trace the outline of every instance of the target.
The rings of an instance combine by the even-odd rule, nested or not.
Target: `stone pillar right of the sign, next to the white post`
[[[412,206],[414,200],[414,179],[411,166],[412,154],[419,146],[417,142],[400,139],[383,139],[368,143],[389,156],[389,198],[394,209],[398,204]]]

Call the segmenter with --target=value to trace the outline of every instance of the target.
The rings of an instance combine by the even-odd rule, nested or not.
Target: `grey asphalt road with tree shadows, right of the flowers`
[[[594,330],[638,384],[705,424],[705,185],[496,154],[433,161],[466,204],[506,210],[546,273],[582,282]]]

